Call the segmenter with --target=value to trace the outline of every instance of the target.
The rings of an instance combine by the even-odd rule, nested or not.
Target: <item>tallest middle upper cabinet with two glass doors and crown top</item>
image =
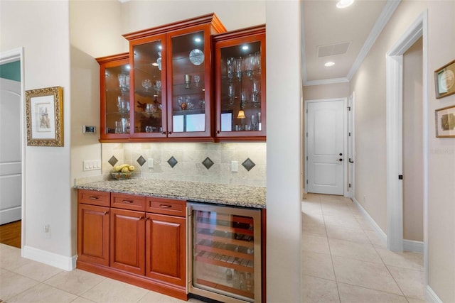
[[[129,40],[131,138],[213,141],[214,13],[124,35]]]

